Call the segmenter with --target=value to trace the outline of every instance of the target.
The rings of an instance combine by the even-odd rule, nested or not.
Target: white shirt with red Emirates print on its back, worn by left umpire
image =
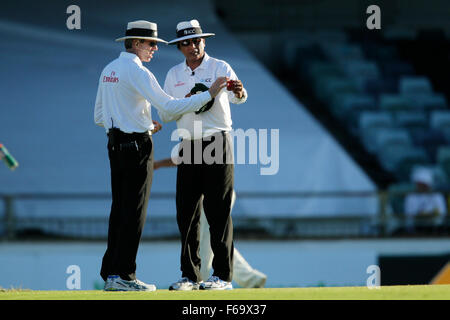
[[[102,71],[95,101],[94,121],[106,131],[146,132],[154,128],[151,106],[170,116],[194,112],[211,100],[209,92],[175,99],[158,84],[153,73],[134,53],[122,52]]]

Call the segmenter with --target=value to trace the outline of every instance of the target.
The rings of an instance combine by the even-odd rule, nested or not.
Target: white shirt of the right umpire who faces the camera
[[[164,91],[176,98],[183,98],[188,94],[196,83],[202,83],[210,87],[218,77],[229,77],[238,80],[230,65],[219,59],[212,58],[205,53],[202,63],[192,71],[186,61],[174,66],[169,70],[164,82]],[[164,110],[158,109],[162,121],[177,121],[178,134],[183,139],[201,139],[220,131],[231,131],[230,102],[241,104],[247,100],[247,91],[244,89],[242,99],[236,98],[232,91],[225,88],[215,97],[211,109],[206,112],[195,114],[186,113],[182,116],[171,116]],[[200,123],[200,130],[194,130],[194,123]]]

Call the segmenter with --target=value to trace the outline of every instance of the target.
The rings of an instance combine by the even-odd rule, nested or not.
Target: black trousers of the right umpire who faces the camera
[[[194,163],[194,149],[205,151],[215,139],[221,138],[222,163]],[[213,275],[225,281],[233,276],[233,223],[231,203],[234,188],[234,165],[226,163],[232,155],[230,137],[227,133],[215,134],[210,141],[183,140],[180,157],[188,148],[191,150],[191,163],[181,163],[177,170],[177,223],[181,234],[181,271],[182,277],[192,281],[201,279],[200,244],[200,206],[201,196],[206,219],[210,226]],[[223,143],[222,143],[223,142]],[[211,147],[211,146],[210,146]],[[210,148],[207,150],[211,150]],[[214,152],[213,152],[214,154]],[[198,158],[197,158],[198,159]],[[209,163],[209,162],[208,162]]]

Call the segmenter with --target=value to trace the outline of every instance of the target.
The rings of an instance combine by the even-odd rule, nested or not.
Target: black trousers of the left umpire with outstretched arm
[[[153,178],[153,141],[148,133],[108,136],[112,205],[100,275],[105,281],[109,275],[134,280]]]

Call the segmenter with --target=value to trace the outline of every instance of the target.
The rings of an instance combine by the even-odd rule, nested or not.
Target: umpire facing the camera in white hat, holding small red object
[[[169,44],[176,44],[184,59],[167,73],[164,90],[168,94],[177,98],[195,96],[207,90],[221,75],[227,76],[233,82],[227,88],[229,91],[223,90],[197,112],[171,116],[158,110],[164,122],[176,120],[182,138],[180,158],[183,160],[178,165],[176,186],[177,223],[182,242],[182,277],[169,289],[232,289],[234,246],[231,203],[234,165],[230,136],[230,102],[244,103],[247,100],[247,92],[227,62],[210,57],[205,52],[205,39],[214,36],[214,33],[204,32],[197,20],[190,20],[178,23],[176,35]],[[198,127],[201,130],[195,129]],[[221,154],[221,157],[215,157],[215,160],[222,161],[211,162],[204,159],[203,155],[213,144],[216,153]],[[219,147],[216,149],[217,146]],[[186,157],[187,150],[194,152]],[[198,151],[202,153],[199,157],[194,155]],[[199,158],[200,163],[197,162]],[[214,253],[214,271],[209,279],[202,279],[200,273],[200,210],[197,209],[201,205],[202,197]],[[206,281],[200,283],[202,280]]]

